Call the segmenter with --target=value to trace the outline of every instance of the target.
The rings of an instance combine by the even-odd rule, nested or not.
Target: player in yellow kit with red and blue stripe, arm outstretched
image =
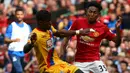
[[[36,57],[39,63],[40,73],[83,73],[74,65],[70,65],[58,57],[55,46],[54,36],[73,36],[76,34],[87,34],[90,29],[81,31],[57,31],[51,25],[51,14],[46,10],[41,10],[36,15],[38,26],[31,35],[31,42],[24,47],[24,52],[27,53],[34,47]]]

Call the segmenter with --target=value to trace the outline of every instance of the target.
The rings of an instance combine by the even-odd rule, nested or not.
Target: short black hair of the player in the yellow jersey
[[[47,10],[40,10],[36,14],[37,21],[50,21],[51,20],[51,13]]]

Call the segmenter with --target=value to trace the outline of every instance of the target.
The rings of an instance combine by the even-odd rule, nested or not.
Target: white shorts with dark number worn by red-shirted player
[[[74,62],[74,65],[79,67],[84,73],[108,73],[108,70],[102,61]]]

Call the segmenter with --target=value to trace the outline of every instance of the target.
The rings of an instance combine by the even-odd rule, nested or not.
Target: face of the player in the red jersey
[[[87,11],[86,11],[86,15],[88,18],[88,21],[90,23],[94,23],[96,22],[98,16],[99,16],[99,11],[98,8],[94,7],[94,6],[90,6]]]

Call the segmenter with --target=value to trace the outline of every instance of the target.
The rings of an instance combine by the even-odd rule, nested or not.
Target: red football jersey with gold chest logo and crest
[[[77,36],[77,53],[75,55],[76,62],[91,62],[100,60],[100,43],[106,38],[112,40],[115,37],[109,28],[103,23],[97,21],[95,24],[89,24],[86,18],[77,19],[70,30],[80,30],[92,28],[96,32],[91,32],[87,35]]]

